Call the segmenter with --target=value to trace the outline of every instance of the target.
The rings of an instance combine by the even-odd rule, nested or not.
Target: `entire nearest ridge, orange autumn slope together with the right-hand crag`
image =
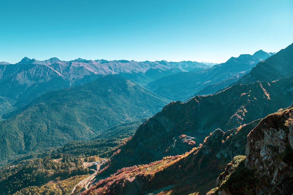
[[[211,188],[207,195],[292,194],[292,114],[290,108],[227,132],[217,129],[198,148],[122,168],[82,194],[203,195]]]

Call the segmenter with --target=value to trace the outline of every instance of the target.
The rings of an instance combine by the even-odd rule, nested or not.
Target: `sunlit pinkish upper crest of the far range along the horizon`
[[[56,63],[56,64],[54,64]],[[170,70],[170,73],[176,73],[181,71],[189,71],[192,69],[202,70],[211,65],[206,65],[204,63],[192,62],[192,61],[182,61],[182,62],[167,62],[167,61],[144,61],[144,62],[136,62],[136,61],[127,61],[127,60],[86,60],[82,58],[78,58],[71,61],[60,61],[58,58],[50,58],[45,61],[38,61],[35,59],[29,59],[27,57],[23,58],[17,64],[43,64],[48,65],[54,70],[57,70],[59,73],[66,72],[70,74],[70,72],[75,72],[76,68],[84,68],[89,72],[100,75],[108,75],[108,74],[123,74],[123,73],[146,73],[148,70],[158,70],[161,72],[162,76],[165,76],[163,72],[166,70]],[[57,68],[58,67],[58,68]],[[71,67],[69,71],[69,67]],[[67,70],[67,71],[66,71]],[[167,74],[170,74],[167,73]],[[156,78],[157,76],[152,76],[151,73],[146,73],[147,76]],[[161,76],[161,77],[162,77]]]

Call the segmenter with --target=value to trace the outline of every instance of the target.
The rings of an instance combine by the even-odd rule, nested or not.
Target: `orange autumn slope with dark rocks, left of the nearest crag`
[[[226,133],[217,129],[205,139],[201,147],[193,148],[183,155],[164,157],[163,162],[161,160],[152,162],[148,166],[122,168],[121,170],[125,172],[118,170],[113,174],[114,177],[100,180],[98,185],[85,191],[84,194],[99,191],[98,189],[104,186],[110,189],[105,191],[106,194],[206,194],[214,186],[214,181],[226,164],[234,156],[245,154],[247,134],[258,122],[259,120],[254,121]],[[241,156],[241,160],[243,157],[245,158]],[[112,160],[113,158],[111,162]],[[229,173],[234,169],[235,166],[227,171]],[[125,185],[120,185],[121,182]],[[122,188],[114,192],[113,189],[117,189],[117,186]]]

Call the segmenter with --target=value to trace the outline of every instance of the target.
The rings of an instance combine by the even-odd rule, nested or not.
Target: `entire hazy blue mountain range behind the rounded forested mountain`
[[[192,61],[93,61],[81,58],[38,61],[25,57],[16,64],[0,64],[0,116],[25,106],[46,92],[78,86],[109,74],[123,75],[170,100],[188,99],[197,92],[209,94],[228,86],[263,60],[257,56],[267,58],[273,54],[260,50],[255,56],[232,57],[220,65]]]

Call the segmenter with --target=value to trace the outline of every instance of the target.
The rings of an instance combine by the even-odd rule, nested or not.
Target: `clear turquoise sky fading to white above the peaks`
[[[0,61],[206,61],[293,42],[292,0],[1,0]]]

